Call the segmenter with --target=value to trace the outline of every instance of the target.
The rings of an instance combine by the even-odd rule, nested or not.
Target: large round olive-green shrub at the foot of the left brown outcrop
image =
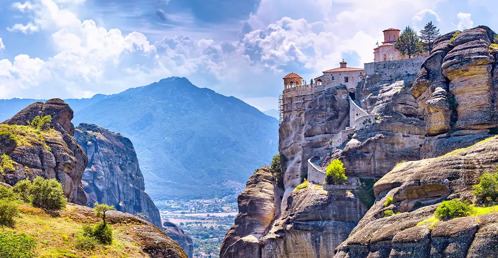
[[[62,185],[54,178],[46,180],[41,176],[33,180],[29,188],[31,205],[34,207],[59,210],[66,207]]]

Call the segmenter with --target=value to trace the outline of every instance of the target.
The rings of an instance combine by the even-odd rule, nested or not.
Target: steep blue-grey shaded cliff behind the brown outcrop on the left
[[[131,141],[121,134],[96,125],[80,124],[75,139],[88,156],[83,174],[87,206],[95,202],[114,205],[116,209],[137,215],[163,229],[177,241],[188,256],[193,256],[192,239],[172,223],[161,223],[159,210],[145,193],[142,172]]]

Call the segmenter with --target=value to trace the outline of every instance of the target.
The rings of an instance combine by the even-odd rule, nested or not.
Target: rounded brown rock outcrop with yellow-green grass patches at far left
[[[87,199],[81,178],[88,158],[73,139],[73,110],[64,101],[51,99],[45,103],[34,103],[2,124],[28,126],[28,121],[35,117],[48,115],[52,117],[51,126],[54,130],[40,132],[27,127],[2,128],[21,139],[15,148],[8,150],[8,155],[16,165],[14,171],[7,171],[3,175],[3,180],[14,185],[20,180],[36,176],[56,178],[62,184],[69,202],[84,205]]]

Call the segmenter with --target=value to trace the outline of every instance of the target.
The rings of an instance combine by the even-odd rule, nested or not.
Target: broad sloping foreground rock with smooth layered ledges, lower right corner
[[[483,173],[495,171],[497,163],[495,136],[459,154],[397,166],[375,183],[376,203],[335,258],[497,257],[497,213],[417,226],[443,200],[474,201],[472,186]],[[387,196],[393,201],[384,207]],[[383,218],[385,210],[395,214]]]

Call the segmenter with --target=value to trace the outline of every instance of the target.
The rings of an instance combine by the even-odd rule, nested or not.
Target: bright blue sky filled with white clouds
[[[0,0],[0,99],[89,98],[170,76],[277,109],[282,77],[363,67],[390,27],[488,25],[497,0]]]

